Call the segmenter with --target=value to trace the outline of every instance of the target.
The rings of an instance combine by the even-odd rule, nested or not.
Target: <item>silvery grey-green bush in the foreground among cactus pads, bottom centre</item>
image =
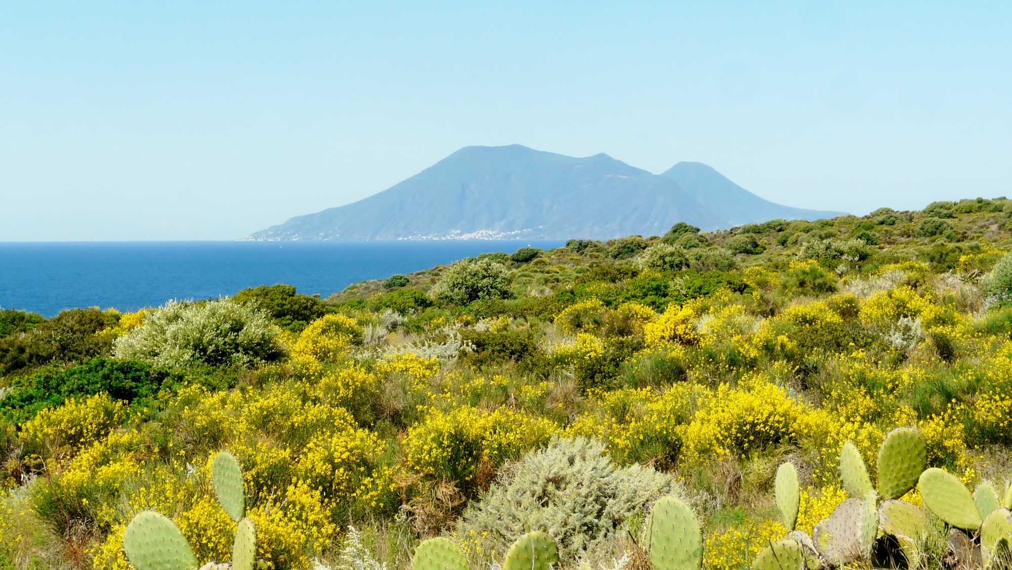
[[[559,544],[563,560],[574,560],[581,550],[607,549],[623,521],[669,494],[681,494],[669,474],[617,467],[597,439],[557,438],[506,465],[482,500],[465,511],[457,533],[488,533],[486,547],[505,552],[526,531],[540,528]]]

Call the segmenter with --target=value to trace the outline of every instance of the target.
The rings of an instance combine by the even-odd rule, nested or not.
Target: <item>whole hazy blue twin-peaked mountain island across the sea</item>
[[[356,202],[300,216],[252,240],[608,239],[774,218],[838,216],[767,201],[697,162],[652,174],[598,154],[465,147]]]

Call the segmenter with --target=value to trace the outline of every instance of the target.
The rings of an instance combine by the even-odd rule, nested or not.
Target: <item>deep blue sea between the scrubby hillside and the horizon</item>
[[[288,283],[327,297],[350,283],[479,253],[562,241],[0,243],[0,307],[52,317],[73,307],[136,311]]]

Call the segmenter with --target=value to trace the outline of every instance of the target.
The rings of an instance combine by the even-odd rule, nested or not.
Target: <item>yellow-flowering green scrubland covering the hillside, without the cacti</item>
[[[704,567],[748,568],[788,531],[779,465],[811,534],[848,496],[844,443],[874,480],[898,426],[929,466],[1001,494],[1010,236],[1012,200],[978,198],[573,240],[326,300],[270,286],[137,313],[4,310],[0,566],[130,568],[124,527],[145,509],[201,564],[229,561],[220,451],[273,569],[409,568],[437,536],[495,568],[534,530],[564,568],[643,568],[665,495],[698,517]],[[948,531],[928,515],[931,568]]]

